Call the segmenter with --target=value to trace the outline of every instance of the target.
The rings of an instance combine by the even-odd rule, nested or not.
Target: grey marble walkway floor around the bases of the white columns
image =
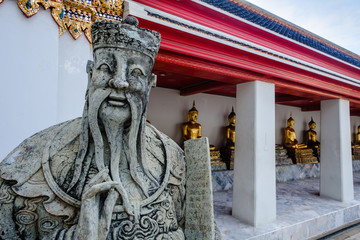
[[[231,190],[214,192],[222,239],[317,239],[349,226],[360,219],[360,172],[354,172],[353,178],[354,200],[349,202],[320,197],[319,178],[276,183],[276,221],[258,227],[231,216]]]

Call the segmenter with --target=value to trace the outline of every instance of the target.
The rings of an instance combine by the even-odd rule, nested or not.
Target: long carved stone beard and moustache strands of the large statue
[[[119,183],[120,195],[124,202],[128,202],[128,197],[124,196],[125,189],[119,176],[119,164],[122,149],[128,152],[126,160],[128,161],[130,175],[134,182],[142,190],[142,193],[148,197],[148,190],[150,184],[153,187],[158,187],[159,184],[155,178],[150,174],[145,159],[145,137],[144,133],[146,122],[146,105],[147,97],[139,96],[138,94],[125,93],[128,103],[130,105],[131,121],[128,126],[127,139],[124,140],[124,125],[116,126],[116,119],[100,118],[104,126],[105,133],[102,134],[99,124],[99,109],[104,101],[109,96],[111,89],[97,89],[95,90],[85,104],[83,114],[83,132],[80,136],[80,149],[75,162],[75,170],[72,182],[69,186],[70,191],[76,185],[76,195],[81,197],[82,190],[85,185],[85,179],[91,163],[91,147],[89,144],[89,130],[95,146],[95,163],[99,171],[105,168],[105,154],[104,154],[104,139],[109,142],[110,159],[109,168],[111,178],[113,181]],[[101,113],[100,113],[101,114]],[[115,121],[115,122],[114,122]],[[124,123],[118,123],[124,124]],[[114,129],[118,129],[114,131]],[[116,141],[114,141],[116,139]],[[125,145],[123,145],[125,143]],[[88,156],[91,155],[91,156]],[[87,157],[86,157],[87,156]]]

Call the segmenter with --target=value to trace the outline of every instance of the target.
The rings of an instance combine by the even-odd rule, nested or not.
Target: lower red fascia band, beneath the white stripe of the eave
[[[150,21],[142,20],[141,25],[159,31],[162,34],[161,49],[180,54],[178,58],[184,59],[184,62],[189,62],[189,59],[186,57],[188,56],[201,59],[205,62],[210,61],[220,64],[218,69],[222,69],[221,66],[224,65],[246,69],[269,75],[277,79],[283,78],[294,83],[343,94],[346,97],[360,98],[359,87],[342,83],[332,78],[318,75],[249,52],[234,49],[191,34],[180,32],[179,30],[155,24]],[[208,63],[205,64],[204,71],[208,71],[208,68],[206,67],[208,66],[207,64]],[[226,68],[224,68],[223,74],[227,75]],[[261,80],[259,78],[256,79]],[[226,82],[233,83],[233,80],[228,79]],[[276,80],[274,83],[276,83]]]

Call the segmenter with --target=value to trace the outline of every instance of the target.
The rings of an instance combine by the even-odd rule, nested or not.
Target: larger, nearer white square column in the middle
[[[232,214],[259,226],[276,219],[275,86],[237,85]]]

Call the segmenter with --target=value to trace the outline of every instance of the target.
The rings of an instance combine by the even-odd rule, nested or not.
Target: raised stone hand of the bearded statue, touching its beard
[[[95,184],[82,196],[79,222],[74,239],[105,240],[110,229],[111,216],[119,193],[116,182]],[[104,199],[100,198],[105,196]]]

